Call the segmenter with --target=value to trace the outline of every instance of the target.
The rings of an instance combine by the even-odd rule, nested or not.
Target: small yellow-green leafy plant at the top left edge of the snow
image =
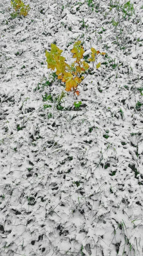
[[[14,8],[17,15],[27,16],[30,10],[30,6],[25,5],[21,0],[11,0],[11,6]],[[14,16],[14,13],[12,15]]]

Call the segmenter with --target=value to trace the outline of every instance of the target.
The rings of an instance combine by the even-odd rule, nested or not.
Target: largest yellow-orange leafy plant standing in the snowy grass
[[[73,58],[76,58],[71,65],[65,62],[65,58],[61,56],[63,51],[60,50],[55,44],[51,44],[51,51],[45,52],[47,57],[46,61],[48,63],[48,69],[55,70],[56,68],[56,75],[58,79],[61,79],[62,82],[65,83],[65,90],[66,91],[74,91],[74,95],[79,96],[78,85],[83,81],[84,74],[89,74],[90,66],[85,60],[83,59],[84,48],[81,45],[81,41],[77,41],[73,45],[73,49],[71,52],[73,53]],[[88,59],[88,62],[93,62],[93,66],[95,63],[95,59],[98,54],[105,55],[105,52],[96,51],[94,48],[91,48],[91,58]],[[98,69],[101,66],[99,62],[96,65]]]

